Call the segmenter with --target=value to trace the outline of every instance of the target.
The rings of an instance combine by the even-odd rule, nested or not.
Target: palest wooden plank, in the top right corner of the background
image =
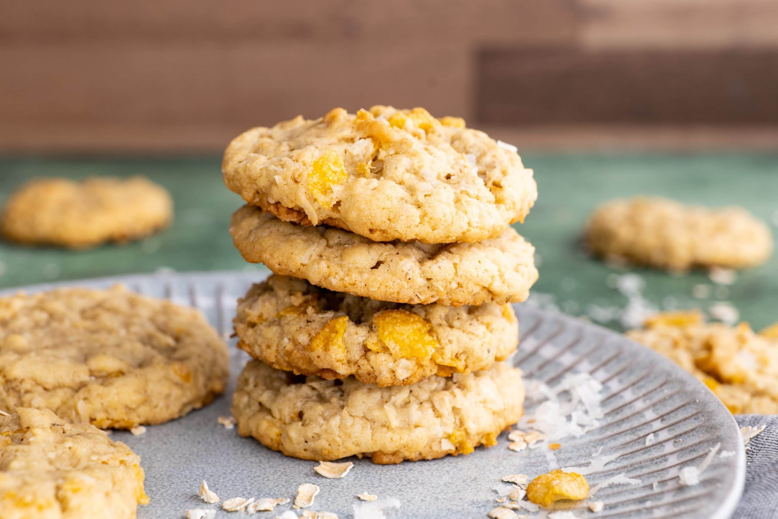
[[[590,49],[778,47],[775,0],[579,0]]]

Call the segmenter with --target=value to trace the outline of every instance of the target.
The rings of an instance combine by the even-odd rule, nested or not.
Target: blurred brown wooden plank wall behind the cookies
[[[0,153],[213,153],[342,106],[523,148],[778,149],[776,0],[0,0]]]

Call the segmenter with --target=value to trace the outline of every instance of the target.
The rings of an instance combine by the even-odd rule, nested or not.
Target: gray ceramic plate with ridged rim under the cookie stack
[[[138,292],[198,307],[220,332],[230,335],[237,298],[261,277],[246,272],[134,275],[58,286],[104,287],[123,282]],[[478,448],[468,456],[384,466],[354,459],[356,466],[345,479],[324,479],[314,472],[316,463],[286,458],[216,422],[217,416],[230,414],[235,375],[248,358],[230,342],[233,380],[225,395],[182,419],[150,426],[142,436],[114,433],[115,440],[140,454],[145,468],[151,503],[139,510],[138,517],[168,519],[184,517],[192,507],[216,508],[198,500],[202,479],[224,499],[293,497],[300,483],[314,482],[321,493],[313,510],[332,511],[342,519],[352,517],[352,504],[359,503],[355,496],[365,491],[401,501],[401,508],[387,510],[387,517],[486,517],[496,507],[494,486],[503,475],[532,476],[552,468],[585,466],[600,447],[602,454],[620,456],[600,472],[587,475],[593,486],[622,472],[641,483],[602,489],[595,500],[605,502],[604,510],[594,514],[584,503],[576,503],[571,510],[577,517],[731,516],[742,491],[745,451],[737,424],[710,391],[675,364],[622,335],[560,314],[523,305],[516,308],[521,343],[513,363],[524,370],[525,378],[553,385],[564,373],[585,371],[605,384],[601,426],[562,440],[555,456],[548,456],[545,448],[509,451],[503,434],[496,447]],[[656,440],[647,446],[649,433]],[[717,456],[698,485],[680,486],[681,468],[699,465],[718,443],[721,450],[734,451],[734,456]],[[274,517],[288,508],[254,517]],[[243,515],[219,509],[217,517]]]

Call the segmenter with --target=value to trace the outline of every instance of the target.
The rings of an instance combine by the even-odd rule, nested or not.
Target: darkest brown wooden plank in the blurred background
[[[490,124],[778,123],[778,50],[485,49],[476,77]]]

